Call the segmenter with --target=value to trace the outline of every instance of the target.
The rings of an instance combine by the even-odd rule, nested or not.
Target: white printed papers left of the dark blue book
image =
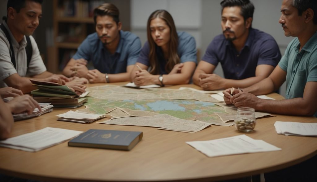
[[[0,146],[36,152],[62,143],[81,133],[82,131],[46,127],[42,130],[2,140],[0,141]]]

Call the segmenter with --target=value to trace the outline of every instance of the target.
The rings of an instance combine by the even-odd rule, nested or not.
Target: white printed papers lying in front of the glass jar
[[[263,140],[254,140],[246,135],[186,143],[208,157],[281,150]]]

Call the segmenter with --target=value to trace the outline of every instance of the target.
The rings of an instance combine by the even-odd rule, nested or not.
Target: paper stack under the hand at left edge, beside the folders
[[[34,118],[37,116],[41,116],[42,114],[52,112],[53,109],[51,109],[53,106],[50,105],[50,103],[39,103],[41,106],[41,112],[38,110],[38,108],[35,108],[34,111],[31,114],[28,114],[27,112],[23,112],[20,114],[13,114],[13,119],[14,121],[19,121],[22,119],[29,119],[29,118]]]

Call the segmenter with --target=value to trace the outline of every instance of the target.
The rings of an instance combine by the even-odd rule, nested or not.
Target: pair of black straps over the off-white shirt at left
[[[0,25],[0,28],[2,29],[2,31],[4,32],[5,36],[7,37],[9,44],[10,44],[10,57],[11,57],[11,62],[14,66],[14,68],[16,69],[16,58],[14,56],[14,50],[13,50],[13,46],[11,44],[11,38],[10,38],[10,34],[8,32],[8,30],[4,27],[3,24]],[[32,44],[31,44],[31,40],[29,36],[25,36],[26,41],[27,41],[27,45],[25,47],[25,52],[26,52],[26,57],[27,57],[27,69],[29,68],[29,64],[31,62],[31,58],[32,58]]]

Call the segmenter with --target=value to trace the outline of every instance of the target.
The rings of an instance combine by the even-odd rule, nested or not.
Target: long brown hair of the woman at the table
[[[147,40],[150,45],[150,53],[149,53],[149,61],[150,61],[150,73],[157,75],[159,74],[159,60],[157,60],[156,56],[156,44],[152,38],[151,35],[151,28],[150,24],[151,21],[155,18],[160,18],[164,20],[168,27],[170,27],[171,32],[171,39],[169,41],[169,51],[168,51],[168,60],[165,65],[165,70],[167,73],[169,73],[175,64],[178,64],[180,62],[179,56],[177,54],[177,47],[178,47],[178,34],[176,32],[176,27],[174,24],[174,20],[169,12],[166,10],[156,10],[154,11],[147,20]]]

